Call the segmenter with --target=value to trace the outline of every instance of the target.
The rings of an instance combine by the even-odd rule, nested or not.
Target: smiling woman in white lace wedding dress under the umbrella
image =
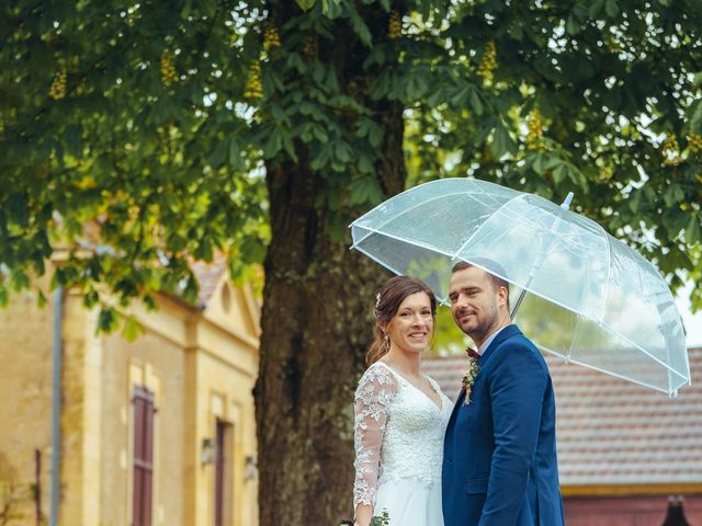
[[[384,512],[392,526],[442,526],[443,435],[452,403],[421,373],[437,299],[421,281],[388,279],[374,310],[370,367],[355,391],[355,523]]]

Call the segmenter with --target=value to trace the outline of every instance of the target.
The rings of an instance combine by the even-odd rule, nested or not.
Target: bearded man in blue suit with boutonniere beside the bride
[[[492,261],[476,263],[506,275]],[[509,284],[461,262],[452,270],[449,298],[480,356],[469,403],[464,389],[444,438],[444,525],[561,526],[551,376],[511,322]]]

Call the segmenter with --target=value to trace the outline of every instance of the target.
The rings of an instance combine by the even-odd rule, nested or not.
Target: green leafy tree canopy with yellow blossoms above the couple
[[[303,294],[324,274],[314,283],[339,286],[340,305],[361,294],[314,240],[343,248],[363,210],[466,174],[556,202],[573,191],[576,210],[673,287],[702,282],[699,0],[11,0],[0,12],[0,301],[57,247],[70,258],[54,283],[88,306],[99,284],[124,302],[193,300],[191,259],[222,250],[242,275],[267,258],[273,381],[278,285]],[[303,213],[304,239],[285,248]],[[702,287],[692,294],[702,307]],[[105,306],[101,327],[114,325]],[[303,381],[291,378],[286,397]],[[304,516],[336,513],[301,502],[318,511]]]

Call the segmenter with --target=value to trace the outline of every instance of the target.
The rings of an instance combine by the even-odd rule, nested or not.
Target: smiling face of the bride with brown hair
[[[434,319],[431,316],[431,302],[426,293],[407,296],[387,325],[392,345],[410,353],[427,348]]]

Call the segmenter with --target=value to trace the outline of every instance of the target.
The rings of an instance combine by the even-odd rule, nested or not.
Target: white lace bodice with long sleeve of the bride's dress
[[[441,480],[443,434],[452,403],[434,380],[441,409],[384,362],[364,373],[355,391],[353,506],[375,504],[387,480]]]

